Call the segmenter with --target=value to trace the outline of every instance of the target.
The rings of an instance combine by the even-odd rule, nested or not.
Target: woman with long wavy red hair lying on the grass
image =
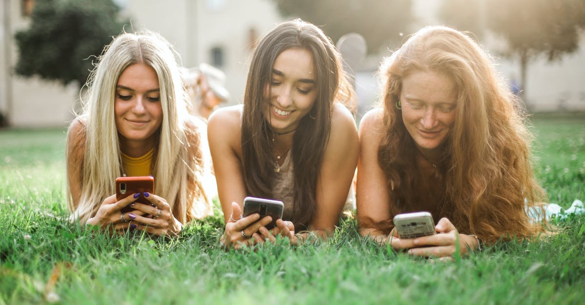
[[[525,207],[545,194],[514,96],[480,46],[448,27],[419,30],[379,71],[382,105],[360,124],[360,232],[422,257],[531,237]],[[401,240],[393,217],[431,212],[438,234]],[[459,247],[457,247],[459,243]]]

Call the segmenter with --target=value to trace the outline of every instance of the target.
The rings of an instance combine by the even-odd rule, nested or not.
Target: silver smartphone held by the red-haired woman
[[[436,234],[429,212],[403,213],[394,216],[394,227],[400,238],[417,238]]]

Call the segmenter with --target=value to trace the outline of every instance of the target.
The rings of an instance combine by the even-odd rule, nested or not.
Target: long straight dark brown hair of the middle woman
[[[249,195],[272,195],[273,133],[269,118],[264,117],[262,109],[266,103],[265,92],[270,86],[274,61],[289,48],[308,50],[312,54],[316,72],[315,103],[309,115],[301,119],[291,147],[294,167],[292,221],[306,227],[316,209],[316,181],[331,131],[333,103],[352,100],[353,89],[341,70],[338,51],[315,25],[295,19],[281,23],[266,34],[254,50],[244,95],[242,164]]]

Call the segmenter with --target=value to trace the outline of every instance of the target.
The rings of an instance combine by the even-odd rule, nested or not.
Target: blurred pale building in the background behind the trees
[[[184,67],[208,63],[226,74],[230,104],[242,101],[248,63],[254,43],[285,20],[270,0],[115,0],[122,14],[132,20],[126,31],[146,27],[161,33],[177,48]],[[418,22],[415,32],[439,23],[436,12],[442,0],[413,0]],[[0,13],[0,113],[12,126],[64,126],[73,119],[77,85],[67,87],[13,73],[18,61],[13,34],[29,24],[34,0],[2,0]],[[405,33],[407,34],[407,33]],[[585,43],[585,37],[583,39]],[[488,37],[481,43],[497,54],[502,42]],[[374,102],[378,85],[373,77],[377,64],[390,53],[369,56],[356,75],[360,103]],[[519,64],[499,60],[498,70],[510,82],[519,82]],[[585,47],[556,63],[543,58],[529,64],[526,103],[532,111],[585,110]],[[365,107],[364,109],[367,109]]]

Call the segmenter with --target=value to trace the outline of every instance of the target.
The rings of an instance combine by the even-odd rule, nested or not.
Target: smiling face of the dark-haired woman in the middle
[[[270,84],[264,116],[277,133],[297,129],[317,96],[312,54],[304,48],[284,50],[274,61]]]

